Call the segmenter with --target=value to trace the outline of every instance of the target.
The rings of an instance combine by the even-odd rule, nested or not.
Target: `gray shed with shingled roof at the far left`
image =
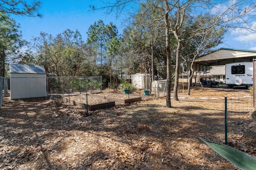
[[[44,66],[10,64],[10,98],[46,97]]]

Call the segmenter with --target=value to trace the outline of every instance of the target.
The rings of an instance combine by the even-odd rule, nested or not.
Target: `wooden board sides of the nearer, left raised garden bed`
[[[86,108],[87,105],[85,103],[78,102],[76,100],[72,100],[72,99],[64,97],[64,96],[62,96],[62,99],[65,102],[69,102],[70,104],[72,104],[74,106],[78,106],[80,108],[87,109]],[[94,110],[105,109],[105,108],[109,108],[109,107],[113,107],[113,106],[115,106],[115,102],[106,102],[106,103],[94,104],[94,105],[89,105],[88,104],[88,110],[89,111],[94,111]]]

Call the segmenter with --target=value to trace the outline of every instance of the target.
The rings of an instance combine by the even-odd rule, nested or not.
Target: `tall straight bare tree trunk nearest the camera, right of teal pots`
[[[165,42],[166,42],[166,59],[167,59],[167,77],[166,77],[166,107],[172,107],[171,105],[171,50],[170,50],[170,33],[168,23],[169,6],[167,0],[165,0]]]

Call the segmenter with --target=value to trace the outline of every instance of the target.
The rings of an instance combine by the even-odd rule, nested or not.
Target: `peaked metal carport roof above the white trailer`
[[[220,48],[209,54],[203,55],[195,59],[193,64],[194,70],[202,70],[205,66],[225,65],[238,62],[252,62],[256,59],[256,51],[242,49]],[[190,68],[192,61],[188,62]]]

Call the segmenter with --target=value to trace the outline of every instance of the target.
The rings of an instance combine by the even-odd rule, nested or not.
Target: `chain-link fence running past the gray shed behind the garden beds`
[[[9,94],[11,99],[18,99],[51,96],[56,91],[79,94],[102,92],[102,77],[0,77],[0,87],[1,107],[3,98]]]

